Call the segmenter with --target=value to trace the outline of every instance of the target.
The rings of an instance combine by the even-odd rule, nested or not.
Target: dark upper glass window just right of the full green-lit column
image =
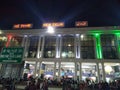
[[[103,49],[103,58],[105,59],[117,59],[117,48],[116,48],[115,36],[112,34],[102,34],[101,44]]]

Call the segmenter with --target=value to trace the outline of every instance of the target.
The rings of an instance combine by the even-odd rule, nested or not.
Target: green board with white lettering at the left
[[[21,63],[23,59],[23,47],[7,47],[3,48],[0,54],[0,62],[2,63]]]

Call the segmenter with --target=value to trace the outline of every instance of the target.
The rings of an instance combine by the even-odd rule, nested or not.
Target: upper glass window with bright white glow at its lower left
[[[62,58],[74,58],[74,36],[65,35],[62,37]]]

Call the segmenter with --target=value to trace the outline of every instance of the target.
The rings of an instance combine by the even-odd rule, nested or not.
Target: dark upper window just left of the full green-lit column
[[[83,59],[94,59],[94,38],[92,35],[81,35],[80,37],[81,45],[81,58]]]

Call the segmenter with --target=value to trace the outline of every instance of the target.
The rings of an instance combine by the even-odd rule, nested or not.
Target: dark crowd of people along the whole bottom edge
[[[22,79],[22,81],[24,81]],[[0,78],[3,89],[15,90],[15,84],[19,84],[21,80],[12,78]],[[48,87],[60,87],[62,90],[120,90],[120,80],[112,82],[94,82],[92,80],[73,80],[72,78],[61,79],[45,79],[45,78],[29,78],[25,80],[25,90],[48,90]]]

